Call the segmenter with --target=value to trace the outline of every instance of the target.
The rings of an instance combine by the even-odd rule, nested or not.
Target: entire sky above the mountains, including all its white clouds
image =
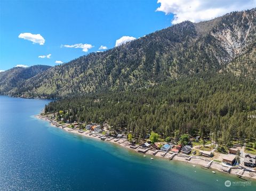
[[[118,39],[255,6],[256,0],[0,0],[0,71],[68,62],[113,48]]]

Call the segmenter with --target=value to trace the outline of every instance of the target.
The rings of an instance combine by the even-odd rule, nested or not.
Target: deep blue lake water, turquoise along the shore
[[[0,190],[256,190],[221,172],[150,160],[34,117],[49,101],[0,96]]]

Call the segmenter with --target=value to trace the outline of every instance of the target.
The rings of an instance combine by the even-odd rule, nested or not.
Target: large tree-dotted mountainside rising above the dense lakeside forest
[[[186,21],[53,67],[9,94],[63,97],[101,89],[148,87],[209,71],[256,79],[255,41],[255,9],[211,21]]]

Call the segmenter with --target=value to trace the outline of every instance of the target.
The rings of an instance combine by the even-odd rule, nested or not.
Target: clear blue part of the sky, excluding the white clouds
[[[122,36],[135,38],[171,25],[172,15],[156,12],[157,1],[1,1],[0,70],[17,64],[55,65],[76,57],[112,48]],[[40,34],[39,45],[18,38],[21,33]],[[90,44],[82,48],[61,45]],[[38,56],[49,55],[50,59]]]

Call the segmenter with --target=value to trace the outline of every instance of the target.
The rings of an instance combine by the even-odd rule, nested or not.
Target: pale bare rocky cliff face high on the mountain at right
[[[221,22],[210,34],[217,39],[224,51],[227,52],[224,62],[229,62],[235,56],[244,53],[256,39],[256,11],[230,13],[223,16]],[[217,55],[218,57],[218,55]],[[221,63],[220,57],[218,57]]]

